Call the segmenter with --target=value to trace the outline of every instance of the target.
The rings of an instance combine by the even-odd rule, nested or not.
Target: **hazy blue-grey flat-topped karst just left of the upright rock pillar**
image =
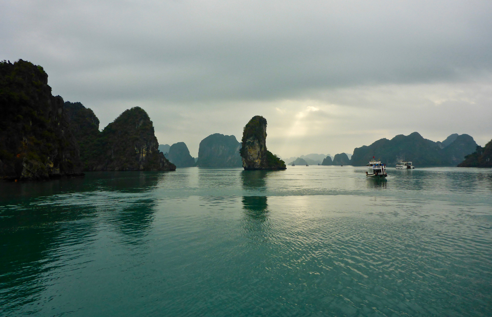
[[[241,143],[234,135],[215,133],[200,142],[198,148],[199,167],[241,167],[243,161],[239,155]]]

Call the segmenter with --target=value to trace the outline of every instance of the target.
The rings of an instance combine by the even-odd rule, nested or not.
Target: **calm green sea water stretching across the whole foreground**
[[[492,170],[0,184],[1,316],[491,316]]]

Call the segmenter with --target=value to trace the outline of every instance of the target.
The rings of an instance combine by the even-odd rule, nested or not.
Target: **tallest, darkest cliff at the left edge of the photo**
[[[63,99],[41,66],[0,62],[0,178],[41,180],[81,174]]]

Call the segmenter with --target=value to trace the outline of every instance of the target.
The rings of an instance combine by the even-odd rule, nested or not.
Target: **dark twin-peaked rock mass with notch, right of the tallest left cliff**
[[[70,128],[82,149],[84,170],[175,170],[158,149],[154,126],[145,110],[133,107],[99,132],[99,120],[80,102],[65,103]]]

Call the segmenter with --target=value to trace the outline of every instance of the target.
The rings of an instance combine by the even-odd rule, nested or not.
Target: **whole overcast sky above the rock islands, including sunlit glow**
[[[2,0],[0,60],[44,67],[100,128],[140,106],[194,157],[267,119],[288,158],[414,131],[492,138],[492,1]]]

